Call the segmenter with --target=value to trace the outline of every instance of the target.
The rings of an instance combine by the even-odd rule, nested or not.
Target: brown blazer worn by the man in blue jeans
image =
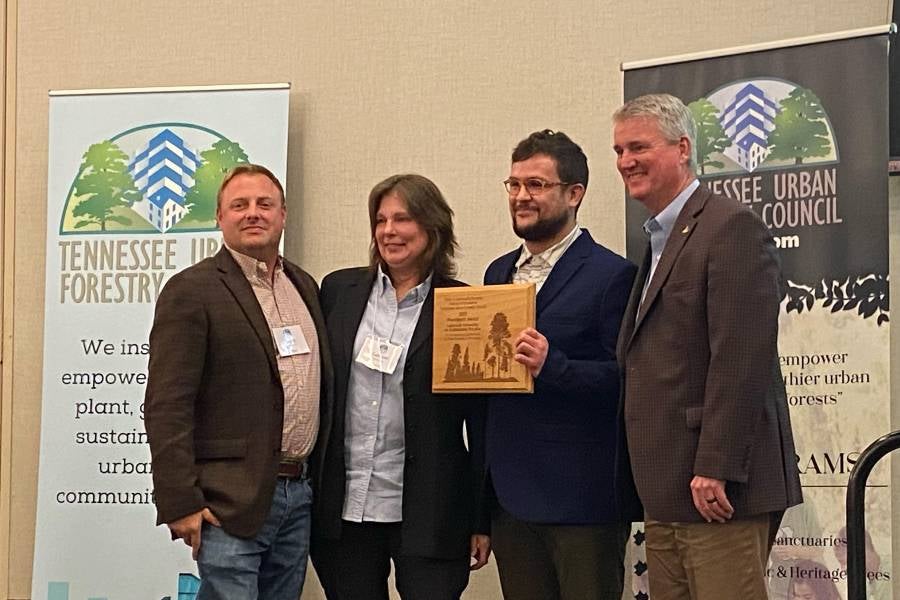
[[[318,287],[288,261],[284,270],[318,332],[324,420],[332,374]],[[228,533],[256,535],[277,478],[284,390],[265,316],[225,247],[160,294],[144,407],[157,524],[209,507]]]

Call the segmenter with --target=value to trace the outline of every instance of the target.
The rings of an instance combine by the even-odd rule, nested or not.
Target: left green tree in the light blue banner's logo
[[[74,228],[98,225],[100,231],[106,231],[109,222],[131,225],[116,209],[131,208],[141,199],[128,172],[128,155],[109,140],[92,144],[84,153],[74,194],[80,198],[72,209]]]

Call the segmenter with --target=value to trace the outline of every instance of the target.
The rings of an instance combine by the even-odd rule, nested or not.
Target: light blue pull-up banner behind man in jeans
[[[221,244],[238,163],[287,166],[287,84],[51,92],[44,379],[31,597],[192,598],[155,527],[143,424],[156,298]]]

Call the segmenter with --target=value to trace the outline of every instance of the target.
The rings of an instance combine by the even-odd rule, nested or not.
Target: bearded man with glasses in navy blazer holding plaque
[[[534,393],[488,404],[492,542],[507,600],[619,600],[633,513],[613,486],[616,336],[636,267],[577,226],[587,158],[562,132],[538,131],[503,182],[519,247],[485,284],[534,282],[537,322],[514,342]]]

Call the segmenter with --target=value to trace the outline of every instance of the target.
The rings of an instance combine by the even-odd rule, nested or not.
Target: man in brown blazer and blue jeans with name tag
[[[225,246],[156,305],[145,419],[157,524],[191,546],[198,600],[296,600],[303,587],[306,460],[330,418],[331,364],[318,288],[278,254],[285,215],[268,169],[236,167],[218,195]]]

